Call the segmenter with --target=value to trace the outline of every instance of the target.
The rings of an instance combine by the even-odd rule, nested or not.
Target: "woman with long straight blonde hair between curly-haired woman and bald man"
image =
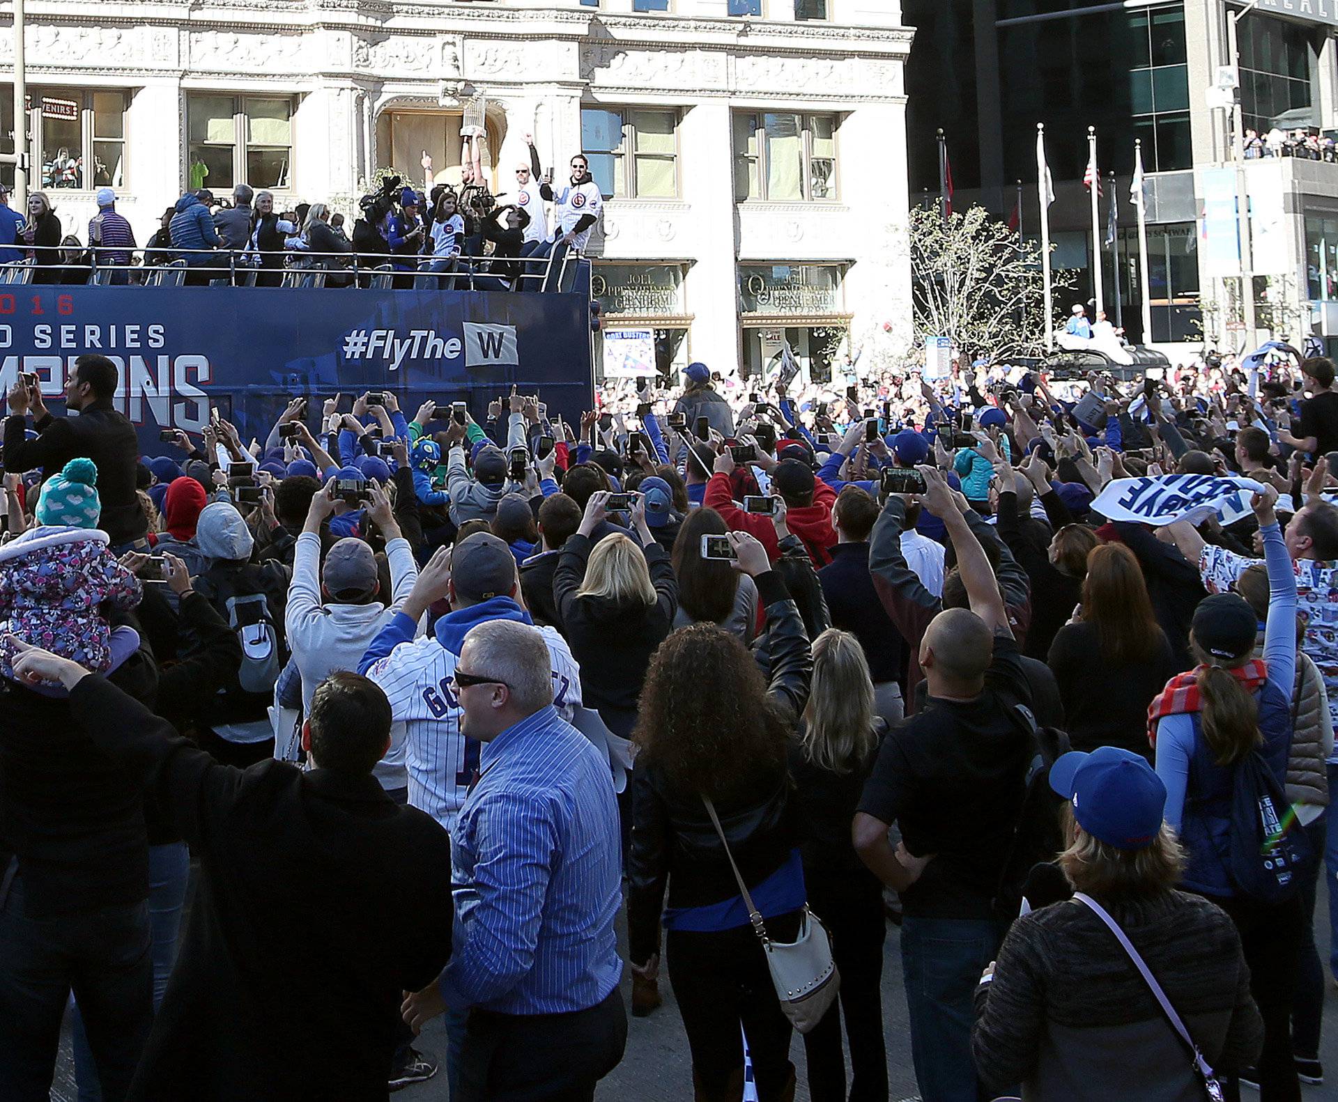
[[[801,847],[808,905],[831,931],[840,972],[840,1010],[834,1003],[804,1036],[814,1102],[846,1099],[842,1015],[850,1043],[850,1098],[887,1099],[883,885],[859,860],[850,833],[886,730],[874,711],[874,682],[859,639],[828,627],[814,641],[812,689],[789,752],[789,772],[808,825]]]

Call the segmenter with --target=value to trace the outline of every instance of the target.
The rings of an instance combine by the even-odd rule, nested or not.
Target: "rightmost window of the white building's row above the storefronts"
[[[735,115],[735,199],[835,199],[836,116]]]

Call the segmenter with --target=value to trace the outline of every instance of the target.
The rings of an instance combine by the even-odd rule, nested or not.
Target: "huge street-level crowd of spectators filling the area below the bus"
[[[886,1102],[888,920],[927,1102],[1322,1082],[1330,361],[116,385],[7,396],[0,1097],[72,996],[86,1098],[591,1099],[664,972],[684,1097]],[[1094,511],[1171,475],[1246,515]]]

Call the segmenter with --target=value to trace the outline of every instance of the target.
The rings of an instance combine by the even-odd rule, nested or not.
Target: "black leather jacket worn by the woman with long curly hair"
[[[808,635],[780,575],[772,570],[756,580],[771,641],[767,695],[793,726],[808,703]],[[747,800],[717,801],[720,825],[749,885],[780,868],[799,844],[799,809],[789,793],[789,773],[781,768]],[[701,800],[672,789],[653,765],[638,768],[633,778],[628,884],[628,938],[636,964],[658,952],[666,887],[670,907],[719,903],[739,892]]]

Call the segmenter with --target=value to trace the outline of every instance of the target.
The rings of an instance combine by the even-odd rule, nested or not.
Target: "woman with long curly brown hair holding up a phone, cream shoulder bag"
[[[653,1006],[644,996],[658,974],[662,919],[698,1102],[741,1097],[740,1023],[759,1099],[785,1102],[795,1093],[789,1020],[705,798],[768,936],[792,942],[805,895],[785,756],[808,699],[812,658],[799,610],[765,548],[744,532],[731,532],[729,542],[767,611],[771,679],[737,635],[713,623],[674,631],[650,661],[633,732],[640,750],[628,872],[633,1012],[638,987],[642,1012]]]

